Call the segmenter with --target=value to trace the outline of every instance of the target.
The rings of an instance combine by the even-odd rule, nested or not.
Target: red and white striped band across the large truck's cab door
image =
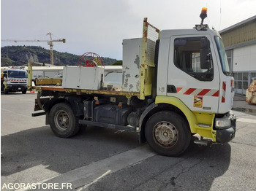
[[[183,95],[204,95],[204,96],[212,96],[212,97],[219,96],[219,90],[213,90],[213,89],[177,87],[176,90],[178,94],[183,94]]]

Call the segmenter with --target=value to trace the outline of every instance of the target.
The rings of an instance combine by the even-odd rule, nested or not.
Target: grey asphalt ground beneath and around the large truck
[[[31,117],[34,98],[1,95],[1,190],[256,190],[255,114],[234,112],[229,144],[191,143],[180,157],[163,157],[137,133],[87,127],[58,138],[45,116]]]

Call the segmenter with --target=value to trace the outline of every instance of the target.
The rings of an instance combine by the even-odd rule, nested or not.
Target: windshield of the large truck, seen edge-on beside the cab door
[[[230,76],[231,75],[230,67],[228,66],[227,55],[225,52],[225,47],[222,42],[222,39],[219,38],[219,36],[215,36],[215,41],[216,41],[218,52],[219,52],[219,60],[222,64],[222,71],[226,76]]]

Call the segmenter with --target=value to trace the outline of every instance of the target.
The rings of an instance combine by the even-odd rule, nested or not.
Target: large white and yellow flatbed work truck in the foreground
[[[123,41],[121,90],[105,87],[96,60],[90,67],[66,66],[62,86],[33,87],[35,111],[44,112],[32,116],[46,114],[46,124],[63,138],[81,125],[137,132],[167,156],[184,152],[196,133],[201,145],[232,140],[234,79],[221,36],[203,24],[205,16],[203,10],[195,28],[163,31],[145,18],[143,37]]]

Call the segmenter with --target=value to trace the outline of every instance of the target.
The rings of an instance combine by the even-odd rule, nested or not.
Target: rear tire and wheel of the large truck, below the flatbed
[[[49,124],[56,136],[62,138],[75,136],[81,126],[78,120],[69,104],[59,103],[50,109]]]

